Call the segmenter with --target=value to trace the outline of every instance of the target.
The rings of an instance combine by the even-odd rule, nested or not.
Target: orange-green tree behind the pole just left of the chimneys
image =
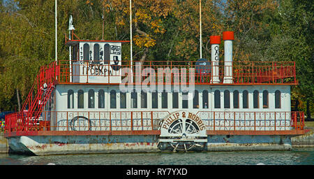
[[[202,13],[202,52],[210,59],[209,36],[222,35],[221,7],[212,0],[177,1],[175,17],[179,36],[175,42],[175,55],[181,59],[196,60],[200,58],[200,5]]]

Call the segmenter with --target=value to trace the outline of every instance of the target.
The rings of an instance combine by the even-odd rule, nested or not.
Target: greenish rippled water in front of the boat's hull
[[[313,165],[314,148],[290,151],[24,156],[0,154],[0,165]]]

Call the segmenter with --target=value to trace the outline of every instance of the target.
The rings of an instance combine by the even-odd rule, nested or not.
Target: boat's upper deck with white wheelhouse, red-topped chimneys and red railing
[[[52,65],[59,84],[297,85],[295,62],[235,62],[233,31],[223,32],[223,55],[220,36],[210,36],[211,59],[190,61],[123,61],[122,43],[128,41],[81,40],[73,30],[65,39],[70,60]]]

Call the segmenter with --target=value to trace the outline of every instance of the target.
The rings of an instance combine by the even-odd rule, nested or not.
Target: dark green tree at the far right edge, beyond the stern
[[[313,3],[310,1],[278,1],[271,20],[271,43],[265,55],[271,60],[296,62],[299,85],[292,87],[292,98],[306,102],[311,118],[314,97]]]

